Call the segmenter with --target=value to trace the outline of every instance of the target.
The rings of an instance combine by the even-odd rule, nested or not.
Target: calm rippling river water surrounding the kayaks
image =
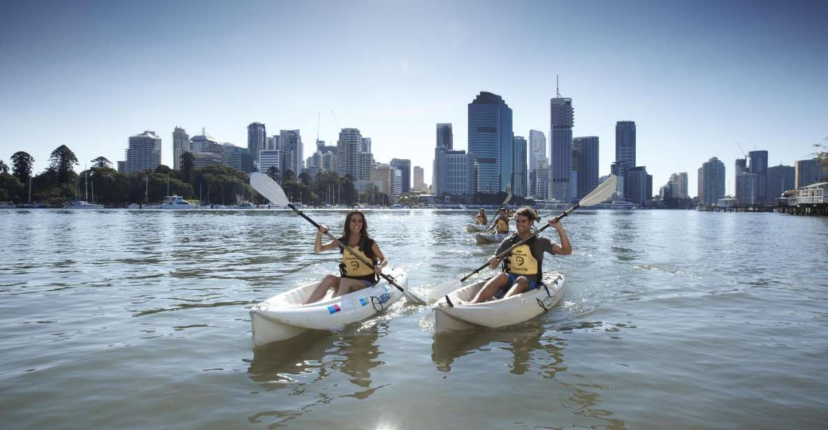
[[[367,218],[419,294],[494,250],[464,212]],[[573,254],[545,260],[566,296],[540,318],[435,336],[434,311],[400,301],[256,350],[253,303],[337,265],[293,213],[0,222],[2,428],[828,426],[826,217],[581,210]]]

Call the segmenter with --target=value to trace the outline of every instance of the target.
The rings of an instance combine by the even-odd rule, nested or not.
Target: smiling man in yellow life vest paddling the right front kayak
[[[569,237],[566,236],[563,225],[556,217],[553,217],[548,222],[558,231],[558,236],[561,238],[560,244],[552,243],[544,236],[535,236],[521,246],[517,246],[505,259],[496,257],[517,242],[532,236],[532,224],[540,219],[532,208],[523,207],[517,210],[515,214],[517,232],[503,239],[498,246],[498,251],[494,253],[495,256],[489,259],[489,267],[492,269],[503,262],[503,273],[489,279],[469,303],[482,303],[492,297],[502,299],[540,288],[543,277],[543,253],[561,256],[568,256],[572,253]]]

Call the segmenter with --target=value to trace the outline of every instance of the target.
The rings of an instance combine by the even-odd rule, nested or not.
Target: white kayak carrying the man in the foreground
[[[546,312],[561,302],[564,295],[564,275],[545,272],[544,288],[532,289],[506,299],[491,299],[484,303],[468,303],[483,288],[485,281],[471,284],[448,294],[436,303],[435,332],[469,330],[479,327],[506,327]]]

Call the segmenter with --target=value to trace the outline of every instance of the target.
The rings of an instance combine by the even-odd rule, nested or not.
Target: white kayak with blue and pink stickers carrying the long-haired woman
[[[386,267],[383,273],[391,276],[403,289],[407,287],[408,274],[402,268]],[[302,304],[318,284],[291,289],[253,306],[250,309],[253,344],[262,346],[290,339],[306,330],[330,330],[358,322],[383,312],[403,296],[402,291],[380,278],[373,287],[340,297],[331,297],[333,293],[329,292],[319,302]]]

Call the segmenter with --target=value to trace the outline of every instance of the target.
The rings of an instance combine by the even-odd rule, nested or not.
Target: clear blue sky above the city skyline
[[[172,165],[173,127],[247,146],[300,129],[305,154],[338,127],[373,138],[378,161],[409,158],[431,183],[435,124],[465,149],[467,104],[497,93],[514,132],[549,132],[555,76],[573,136],[638,125],[653,191],[716,156],[810,158],[828,136],[828,2],[2,2],[0,159],[35,170],[65,144],[83,163],[123,160],[153,130]],[[547,148],[548,152],[548,148]]]

